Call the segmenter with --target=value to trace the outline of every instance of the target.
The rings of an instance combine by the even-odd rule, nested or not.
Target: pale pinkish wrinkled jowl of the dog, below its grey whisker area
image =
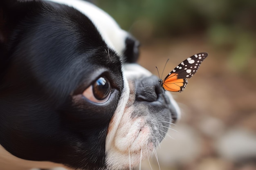
[[[147,117],[131,119],[136,109],[130,106],[125,110],[113,144],[107,152],[106,165],[109,170],[137,166],[141,160],[151,155],[157,146],[156,141],[162,140],[161,137],[154,139],[153,127],[148,124]],[[145,113],[148,111],[145,107]]]

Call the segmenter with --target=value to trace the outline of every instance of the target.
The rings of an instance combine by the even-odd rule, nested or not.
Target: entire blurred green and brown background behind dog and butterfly
[[[95,0],[141,42],[139,64],[164,78],[209,57],[182,93],[182,117],[142,170],[256,170],[256,0]],[[149,163],[150,162],[150,163]],[[151,166],[151,167],[150,167]],[[160,168],[159,168],[160,166]]]

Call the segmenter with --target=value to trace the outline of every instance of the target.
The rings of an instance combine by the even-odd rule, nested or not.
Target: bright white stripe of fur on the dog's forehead
[[[48,0],[74,7],[85,14],[96,26],[106,44],[117,53],[122,54],[128,33],[122,30],[117,22],[102,9],[94,4],[82,0]]]

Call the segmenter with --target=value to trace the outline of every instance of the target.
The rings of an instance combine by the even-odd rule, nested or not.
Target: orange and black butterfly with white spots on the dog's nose
[[[160,86],[164,91],[182,92],[188,84],[189,78],[191,78],[197,71],[204,59],[207,57],[207,53],[197,53],[183,62],[169,73],[164,80],[161,78],[158,80]]]

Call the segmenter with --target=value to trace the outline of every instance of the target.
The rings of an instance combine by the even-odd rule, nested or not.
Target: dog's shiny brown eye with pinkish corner
[[[106,77],[100,77],[83,92],[83,96],[92,102],[103,103],[108,100],[110,90],[109,80]]]

